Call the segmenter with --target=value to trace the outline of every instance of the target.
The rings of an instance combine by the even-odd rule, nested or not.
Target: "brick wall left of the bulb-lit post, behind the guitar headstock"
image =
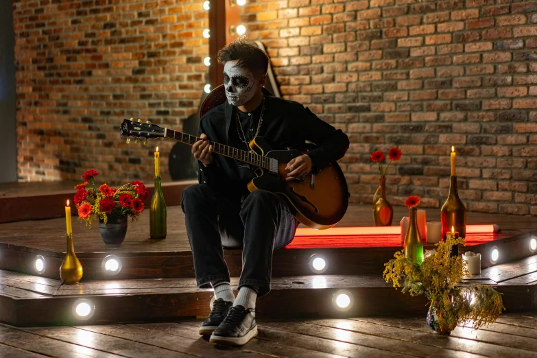
[[[207,69],[200,0],[13,0],[20,181],[151,181],[171,141],[127,145],[123,118],[176,130],[197,110]]]

